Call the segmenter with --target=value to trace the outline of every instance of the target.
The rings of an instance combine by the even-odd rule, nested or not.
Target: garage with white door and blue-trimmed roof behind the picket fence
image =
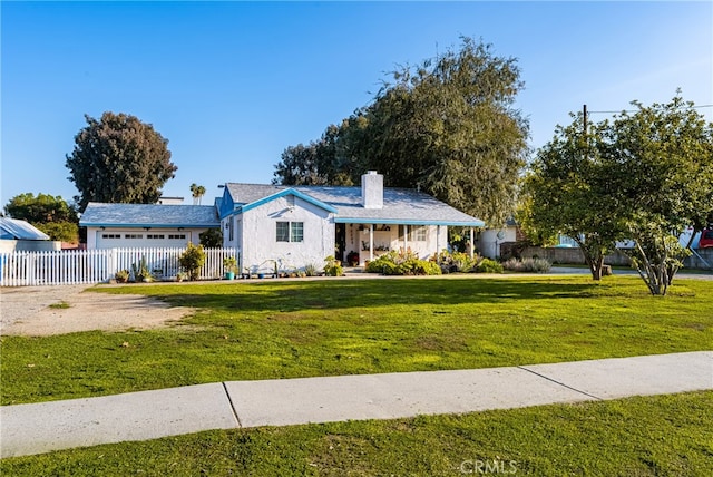
[[[212,205],[104,204],[90,202],[79,225],[87,227],[87,249],[184,247],[217,228]]]

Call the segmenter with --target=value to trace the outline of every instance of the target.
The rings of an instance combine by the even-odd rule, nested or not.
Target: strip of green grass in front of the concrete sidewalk
[[[489,468],[488,475],[709,477],[711,409],[713,392],[693,392],[462,416],[209,431],[3,459],[0,473],[426,477],[484,475],[477,469]]]

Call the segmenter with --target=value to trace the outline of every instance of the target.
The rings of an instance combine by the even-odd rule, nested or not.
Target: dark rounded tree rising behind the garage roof
[[[107,111],[100,120],[85,118],[87,127],[75,136],[75,149],[66,163],[80,194],[75,197],[79,210],[92,201],[156,202],[177,169],[168,140],[135,116]]]

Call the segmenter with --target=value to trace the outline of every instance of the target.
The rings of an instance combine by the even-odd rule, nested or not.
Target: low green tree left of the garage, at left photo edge
[[[61,196],[32,193],[16,195],[4,206],[4,213],[20,218],[45,232],[51,240],[75,243],[78,241],[79,217],[72,205]]]

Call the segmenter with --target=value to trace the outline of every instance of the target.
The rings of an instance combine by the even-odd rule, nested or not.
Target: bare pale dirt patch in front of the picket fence
[[[186,306],[169,306],[143,295],[85,293],[87,288],[69,285],[1,290],[1,333],[42,337],[91,330],[149,329],[166,327],[195,311]],[[59,303],[61,306],[58,308]]]

